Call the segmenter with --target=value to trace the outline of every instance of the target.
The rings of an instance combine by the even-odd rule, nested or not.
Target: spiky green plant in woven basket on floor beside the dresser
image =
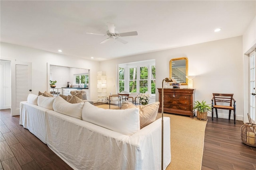
[[[196,116],[198,119],[207,119],[207,113],[212,111],[210,104],[206,104],[206,101],[196,101],[193,107],[196,110]]]

